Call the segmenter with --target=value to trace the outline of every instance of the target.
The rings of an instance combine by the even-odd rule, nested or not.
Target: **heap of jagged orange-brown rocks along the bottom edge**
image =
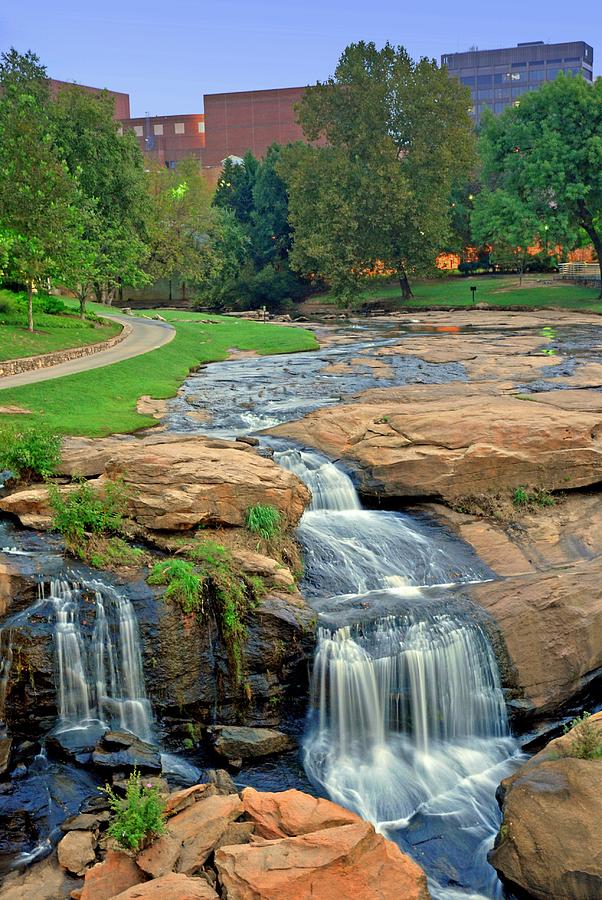
[[[430,896],[420,866],[329,800],[296,790],[239,794],[226,776],[170,794],[165,810],[166,832],[137,855],[107,840],[105,821],[68,831],[58,854],[6,879],[3,900]]]

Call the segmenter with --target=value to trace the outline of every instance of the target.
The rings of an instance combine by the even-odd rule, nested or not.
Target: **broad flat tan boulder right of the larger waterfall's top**
[[[379,497],[453,501],[602,480],[602,412],[528,403],[498,387],[420,387],[374,392],[378,399],[317,410],[271,433],[343,459],[361,490]]]

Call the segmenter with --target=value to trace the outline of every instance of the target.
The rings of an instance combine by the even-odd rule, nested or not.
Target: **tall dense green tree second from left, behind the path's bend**
[[[79,298],[82,317],[93,288],[99,299],[110,301],[118,285],[145,280],[146,174],[134,134],[118,132],[113,105],[107,91],[93,94],[73,85],[51,107],[56,145],[86,201],[85,246],[72,259],[67,284]]]

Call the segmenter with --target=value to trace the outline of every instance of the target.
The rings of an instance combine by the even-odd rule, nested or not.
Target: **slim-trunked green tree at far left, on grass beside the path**
[[[15,50],[0,57],[0,232],[6,274],[33,293],[60,280],[81,235],[81,191],[53,143],[46,71]]]

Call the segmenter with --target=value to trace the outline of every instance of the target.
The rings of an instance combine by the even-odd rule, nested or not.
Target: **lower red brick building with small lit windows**
[[[202,113],[179,116],[141,116],[121,120],[123,130],[130,129],[138,138],[145,157],[167,166],[176,167],[182,159],[202,162],[205,146],[205,117]]]

